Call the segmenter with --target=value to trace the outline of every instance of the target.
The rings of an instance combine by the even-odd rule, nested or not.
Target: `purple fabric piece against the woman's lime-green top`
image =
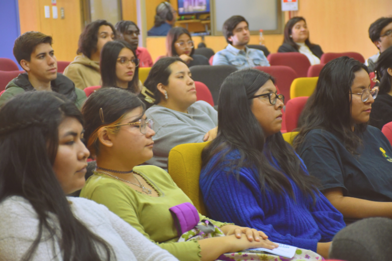
[[[178,237],[193,229],[200,222],[196,207],[189,202],[174,206],[169,211],[172,213]]]

